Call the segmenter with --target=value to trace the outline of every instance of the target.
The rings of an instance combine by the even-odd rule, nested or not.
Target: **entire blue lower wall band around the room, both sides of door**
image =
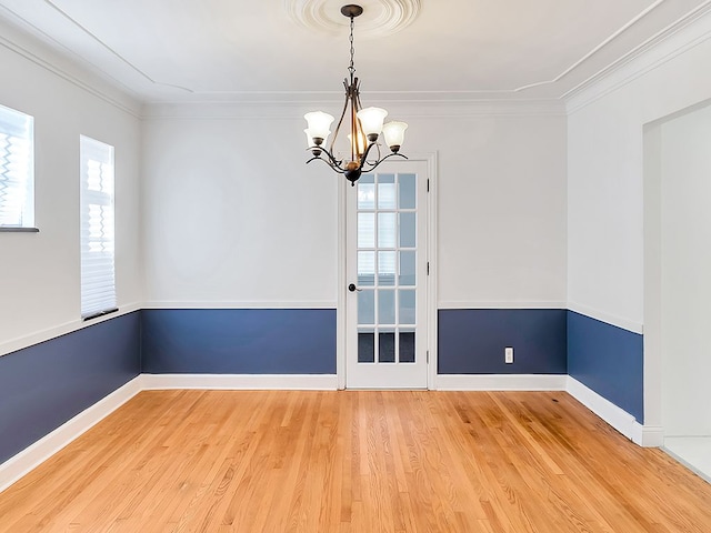
[[[336,310],[142,310],[7,354],[0,463],[141,372],[334,374],[336,330]],[[643,422],[642,335],[572,311],[440,310],[438,371],[568,373]]]

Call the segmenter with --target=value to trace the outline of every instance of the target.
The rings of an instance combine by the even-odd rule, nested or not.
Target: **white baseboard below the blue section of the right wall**
[[[659,447],[664,442],[661,426],[642,425],[634,416],[602,398],[574,378],[568,376],[568,393],[632,442],[644,447]]]

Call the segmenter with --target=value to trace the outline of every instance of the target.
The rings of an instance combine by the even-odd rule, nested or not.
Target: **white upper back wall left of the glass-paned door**
[[[336,306],[338,177],[298,119],[144,124],[149,306]]]

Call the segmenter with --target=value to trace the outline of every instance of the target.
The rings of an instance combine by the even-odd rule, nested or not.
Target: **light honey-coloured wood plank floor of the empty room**
[[[708,533],[711,485],[562,392],[151,391],[0,531]]]

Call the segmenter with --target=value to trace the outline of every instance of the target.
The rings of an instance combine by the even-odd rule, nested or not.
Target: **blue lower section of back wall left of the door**
[[[146,373],[334,374],[336,310],[143,310]]]

